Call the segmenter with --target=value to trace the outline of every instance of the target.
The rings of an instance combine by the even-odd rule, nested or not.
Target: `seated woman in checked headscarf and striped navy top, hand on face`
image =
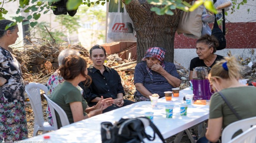
[[[152,94],[161,98],[165,91],[180,86],[181,78],[175,65],[164,61],[165,52],[164,48],[149,48],[142,62],[135,66],[135,101],[150,101]]]

